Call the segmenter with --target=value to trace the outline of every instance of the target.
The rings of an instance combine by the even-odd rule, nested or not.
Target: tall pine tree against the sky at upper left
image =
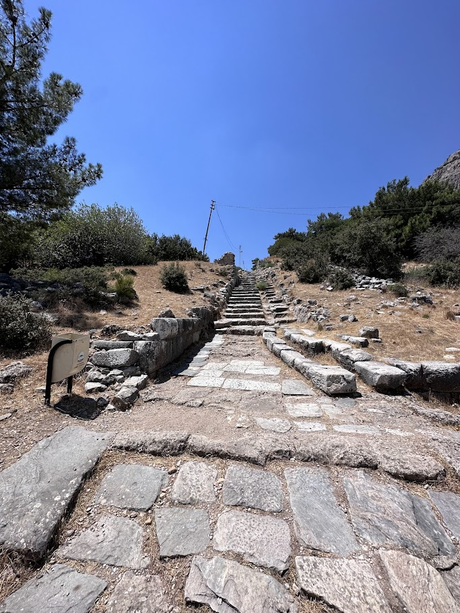
[[[82,96],[82,88],[51,73],[41,78],[51,12],[27,23],[22,0],[0,4],[0,212],[47,219],[69,209],[102,176],[74,138],[48,142]]]

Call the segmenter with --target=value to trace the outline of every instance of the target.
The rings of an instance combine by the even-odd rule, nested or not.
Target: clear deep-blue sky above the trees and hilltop
[[[460,148],[459,0],[24,3],[53,12],[44,75],[84,90],[59,137],[104,178],[78,200],[200,249],[216,200],[247,268],[277,232]],[[211,259],[230,250],[220,220]]]

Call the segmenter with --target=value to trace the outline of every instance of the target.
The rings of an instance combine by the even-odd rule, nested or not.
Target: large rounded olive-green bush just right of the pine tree
[[[131,208],[80,205],[38,233],[37,263],[51,268],[146,262],[147,232]]]

